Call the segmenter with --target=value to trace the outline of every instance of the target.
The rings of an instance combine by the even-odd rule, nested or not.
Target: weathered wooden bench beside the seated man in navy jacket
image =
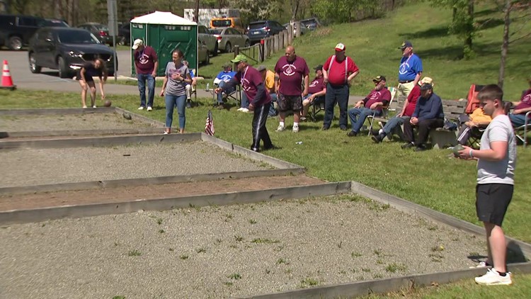
[[[442,111],[445,118],[457,123],[457,130],[450,131],[445,128],[430,130],[430,139],[433,148],[443,149],[447,146],[457,145],[457,131],[459,130],[459,115],[462,115],[467,108],[467,101],[442,100]]]

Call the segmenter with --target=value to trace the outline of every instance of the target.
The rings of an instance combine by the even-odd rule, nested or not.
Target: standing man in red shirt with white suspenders
[[[345,55],[346,47],[342,43],[336,45],[336,55],[332,55],[323,65],[323,77],[326,84],[324,98],[323,129],[328,130],[332,124],[333,108],[339,106],[339,128],[347,130],[347,108],[350,84],[360,72],[352,58]]]

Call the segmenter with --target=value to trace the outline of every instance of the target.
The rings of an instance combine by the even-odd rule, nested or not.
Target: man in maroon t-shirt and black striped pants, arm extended
[[[222,87],[215,89],[216,93],[234,89],[236,85],[241,84],[241,89],[249,98],[249,111],[254,111],[253,115],[253,145],[251,150],[260,152],[260,140],[263,140],[263,149],[270,150],[275,148],[269,137],[268,129],[265,122],[268,120],[269,106],[271,97],[265,89],[262,75],[258,70],[247,63],[248,58],[243,55],[236,55],[232,63],[236,63],[236,75],[224,84]]]

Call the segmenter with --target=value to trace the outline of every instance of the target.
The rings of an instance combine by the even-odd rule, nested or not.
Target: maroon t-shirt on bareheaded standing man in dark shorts
[[[280,78],[280,94],[285,96],[300,96],[302,94],[302,79],[309,74],[308,64],[302,57],[295,56],[292,62],[282,56],[275,65],[275,73]]]

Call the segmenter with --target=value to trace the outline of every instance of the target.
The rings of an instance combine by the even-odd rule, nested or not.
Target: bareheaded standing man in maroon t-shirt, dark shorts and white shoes
[[[278,96],[277,132],[285,130],[286,111],[293,111],[293,132],[299,132],[302,96],[308,94],[309,69],[304,58],[295,55],[295,47],[287,46],[286,55],[275,65],[275,91]],[[301,88],[304,79],[304,90]],[[302,94],[302,96],[301,96]]]

